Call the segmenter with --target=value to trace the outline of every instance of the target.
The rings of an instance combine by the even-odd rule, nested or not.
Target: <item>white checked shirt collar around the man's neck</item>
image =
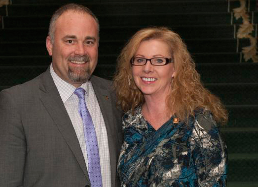
[[[67,99],[69,99],[74,94],[76,87],[61,79],[54,71],[52,63],[50,64],[50,73],[62,98],[62,101],[65,103]],[[86,97],[89,95],[89,81],[83,83],[79,88],[83,88],[86,91]]]

